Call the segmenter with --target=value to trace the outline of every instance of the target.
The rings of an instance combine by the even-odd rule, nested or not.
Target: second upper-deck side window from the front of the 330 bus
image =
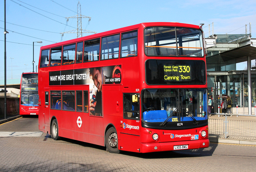
[[[120,35],[112,35],[102,38],[101,59],[114,59],[119,56]]]

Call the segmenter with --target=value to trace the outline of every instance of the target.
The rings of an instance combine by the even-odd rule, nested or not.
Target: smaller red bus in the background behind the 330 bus
[[[20,81],[20,115],[38,115],[38,74],[22,73]]]

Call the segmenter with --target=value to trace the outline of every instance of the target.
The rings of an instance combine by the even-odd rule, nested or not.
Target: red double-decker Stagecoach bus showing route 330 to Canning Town
[[[154,22],[41,47],[39,129],[113,153],[208,147],[203,35]]]

